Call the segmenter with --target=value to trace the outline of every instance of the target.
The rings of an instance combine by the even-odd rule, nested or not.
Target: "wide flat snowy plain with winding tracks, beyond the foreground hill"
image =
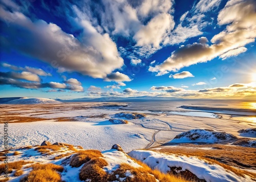
[[[111,104],[109,104],[111,105]],[[125,151],[148,148],[173,140],[175,136],[190,129],[214,129],[240,137],[240,129],[251,127],[252,123],[229,119],[168,115],[150,111],[136,111],[145,117],[123,115],[123,110],[106,103],[62,103],[61,105],[2,105],[0,118],[13,116],[44,119],[37,122],[9,122],[10,147],[35,145],[43,140],[59,141],[81,145],[89,149],[106,150],[115,143]],[[106,106],[106,107],[103,107]],[[122,106],[125,106],[122,103]],[[100,109],[99,109],[100,108]],[[127,109],[127,107],[125,108]],[[133,113],[134,111],[126,110]],[[65,122],[54,122],[65,118]],[[109,119],[124,119],[128,124],[115,124]],[[11,119],[9,120],[11,121]],[[15,120],[14,120],[15,121]],[[2,126],[1,126],[2,125]],[[0,124],[4,127],[3,124]],[[3,145],[1,144],[1,148]]]

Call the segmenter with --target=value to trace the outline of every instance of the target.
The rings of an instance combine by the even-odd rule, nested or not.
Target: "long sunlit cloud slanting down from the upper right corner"
[[[218,15],[220,25],[227,24],[226,29],[211,39],[212,45],[205,38],[199,42],[187,44],[173,51],[162,64],[150,66],[152,72],[177,71],[183,67],[210,61],[216,57],[237,56],[245,51],[248,43],[256,37],[256,2],[229,1]],[[232,14],[230,14],[232,12]]]

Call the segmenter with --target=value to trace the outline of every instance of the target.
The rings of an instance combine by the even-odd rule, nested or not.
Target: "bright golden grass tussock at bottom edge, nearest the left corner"
[[[61,182],[61,176],[58,172],[63,171],[63,167],[55,164],[33,164],[32,171],[22,179],[20,182]]]

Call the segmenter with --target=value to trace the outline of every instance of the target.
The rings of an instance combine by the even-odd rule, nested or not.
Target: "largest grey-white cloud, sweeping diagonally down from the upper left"
[[[77,14],[72,19],[76,27],[82,29],[82,37],[78,40],[73,35],[63,32],[58,25],[43,20],[34,20],[17,11],[7,11],[0,8],[0,18],[6,35],[2,36],[2,43],[6,48],[14,48],[20,53],[47,62],[59,71],[76,71],[94,78],[104,78],[113,70],[123,65],[116,44],[109,34],[99,33],[83,14]],[[13,21],[12,17],[16,17]],[[16,42],[16,32],[19,34]],[[26,32],[26,33],[25,33]],[[33,41],[30,41],[33,40]]]

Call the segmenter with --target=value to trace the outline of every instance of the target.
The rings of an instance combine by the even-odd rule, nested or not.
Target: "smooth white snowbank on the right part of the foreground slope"
[[[188,170],[198,178],[210,181],[253,181],[248,176],[241,177],[231,171],[225,170],[217,164],[209,164],[204,160],[195,157],[177,156],[174,154],[164,154],[150,150],[133,150],[129,153],[132,158],[142,161],[153,169],[159,169],[166,173],[170,167],[182,168],[181,171]]]

